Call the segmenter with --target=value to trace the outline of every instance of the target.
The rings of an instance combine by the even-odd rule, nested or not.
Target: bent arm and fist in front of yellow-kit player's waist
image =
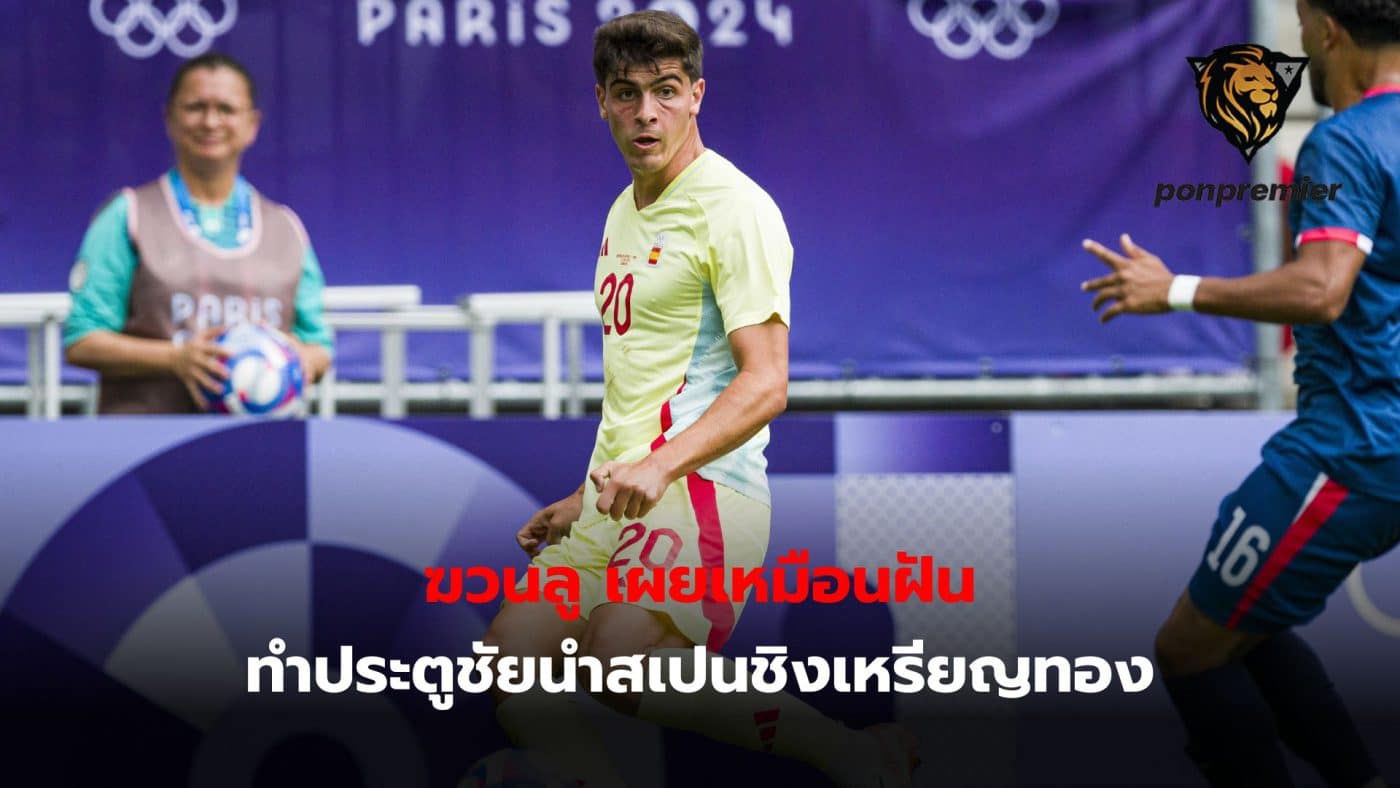
[[[592,470],[598,511],[615,519],[645,516],[666,487],[742,446],[787,409],[788,328],[773,315],[729,332],[738,374],[694,424],[636,463]]]

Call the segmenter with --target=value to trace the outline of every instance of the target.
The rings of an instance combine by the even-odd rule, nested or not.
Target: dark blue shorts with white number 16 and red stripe
[[[1303,462],[1260,465],[1221,501],[1191,602],[1247,633],[1305,624],[1361,561],[1400,540],[1400,502],[1347,490]]]

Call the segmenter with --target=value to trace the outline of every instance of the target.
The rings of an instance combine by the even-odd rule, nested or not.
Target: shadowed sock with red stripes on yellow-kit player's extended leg
[[[692,655],[689,648],[666,648],[648,656],[678,656],[689,666]],[[732,659],[725,663],[734,670]],[[637,717],[749,750],[801,760],[839,785],[867,784],[879,768],[879,745],[872,736],[847,728],[788,693],[720,693],[708,683],[696,693],[643,693]]]

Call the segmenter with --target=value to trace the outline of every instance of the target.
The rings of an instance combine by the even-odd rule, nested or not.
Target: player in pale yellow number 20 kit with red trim
[[[770,502],[763,448],[787,404],[792,245],[771,197],[700,141],[701,45],[673,14],[638,11],[594,38],[598,111],[631,171],[613,203],[594,293],[603,323],[603,417],[589,481],[517,535],[533,565],[573,567],[584,617],[505,605],[486,641],[503,655],[690,658],[718,651],[742,602],[609,603],[608,567],[763,564]],[[728,595],[725,595],[728,596]],[[669,654],[668,654],[669,652]],[[840,785],[909,785],[911,736],[853,731],[790,694],[603,694],[658,725],[811,763]],[[512,740],[584,785],[622,785],[567,696],[497,696]]]

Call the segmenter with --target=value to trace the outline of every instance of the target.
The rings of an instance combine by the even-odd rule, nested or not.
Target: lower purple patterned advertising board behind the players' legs
[[[770,466],[769,570],[794,551],[847,572],[914,551],[976,570],[976,600],[752,599],[725,651],[784,645],[790,665],[889,656],[914,640],[930,656],[1151,655],[1219,497],[1282,420],[785,417],[773,430],[774,445],[791,448]],[[512,535],[581,480],[591,427],[0,423],[0,707],[25,721],[0,739],[13,753],[0,775],[15,785],[323,785],[328,775],[335,785],[455,785],[507,746],[484,694],[458,691],[452,710],[437,711],[423,691],[337,694],[321,679],[315,691],[251,693],[246,659],[267,655],[273,638],[308,656],[346,645],[410,662],[470,654],[497,606],[427,603],[424,568],[522,567]],[[797,458],[802,448],[818,459]],[[959,452],[972,459],[952,462]],[[1386,746],[1400,729],[1397,568],[1400,551],[1366,563],[1302,628],[1386,774],[1400,770],[1400,750]],[[1016,700],[972,686],[802,697],[847,725],[914,729],[925,761],[916,785],[1198,781],[1159,677],[1141,693]],[[701,788],[734,774],[741,785],[819,782],[790,760],[619,721],[601,725],[626,746],[612,757],[630,785]],[[84,757],[71,757],[74,740]],[[253,778],[298,766],[314,778]]]

